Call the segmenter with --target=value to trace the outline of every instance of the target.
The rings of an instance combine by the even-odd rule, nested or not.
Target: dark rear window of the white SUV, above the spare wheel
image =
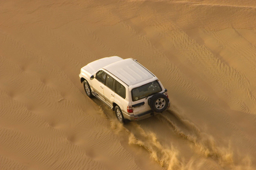
[[[151,83],[132,89],[132,101],[137,101],[146,98],[161,91],[162,88],[158,81],[153,81]]]

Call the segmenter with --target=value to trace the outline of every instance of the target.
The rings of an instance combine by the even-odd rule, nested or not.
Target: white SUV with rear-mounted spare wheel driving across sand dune
[[[86,95],[103,101],[121,123],[138,121],[170,107],[167,89],[132,58],[101,58],[82,67],[79,77]]]

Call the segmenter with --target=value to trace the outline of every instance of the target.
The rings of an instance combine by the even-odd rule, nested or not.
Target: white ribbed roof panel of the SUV
[[[154,74],[132,58],[116,61],[103,67],[103,69],[115,75],[128,86],[155,77]]]

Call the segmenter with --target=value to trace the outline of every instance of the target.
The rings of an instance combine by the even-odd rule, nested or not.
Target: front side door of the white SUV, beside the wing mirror
[[[92,88],[94,92],[96,92],[103,99],[104,99],[103,89],[104,89],[106,77],[107,77],[107,73],[104,72],[103,70],[99,70],[96,73],[95,78],[92,79]]]

